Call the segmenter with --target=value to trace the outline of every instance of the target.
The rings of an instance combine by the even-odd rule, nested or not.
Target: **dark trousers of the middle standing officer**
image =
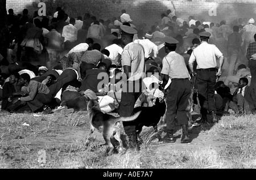
[[[174,130],[175,116],[179,125],[188,125],[186,108],[191,95],[189,79],[172,79],[167,93],[166,122],[167,130]]]

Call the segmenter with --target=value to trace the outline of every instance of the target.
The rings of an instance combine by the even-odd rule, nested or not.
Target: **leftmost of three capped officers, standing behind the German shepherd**
[[[129,117],[134,114],[134,105],[142,93],[142,77],[145,72],[144,50],[141,44],[133,42],[137,31],[127,25],[121,25],[122,53],[122,80],[127,79],[122,86],[122,97],[119,104],[119,115]],[[118,82],[116,80],[115,82]],[[129,136],[130,147],[139,150],[135,122],[123,122],[125,133]]]

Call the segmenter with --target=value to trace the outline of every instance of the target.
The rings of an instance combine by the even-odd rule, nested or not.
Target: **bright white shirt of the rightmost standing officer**
[[[216,56],[223,55],[220,50],[213,44],[202,42],[195,48],[189,58],[189,63],[197,62],[197,69],[217,67]]]

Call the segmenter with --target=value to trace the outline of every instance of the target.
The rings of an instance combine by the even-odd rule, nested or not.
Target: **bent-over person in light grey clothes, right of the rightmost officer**
[[[234,76],[228,76],[226,77],[224,84],[227,86],[230,86],[230,83],[236,83],[238,84],[240,78],[247,78],[248,79],[248,86],[250,86],[250,79],[249,76],[251,76],[250,70],[247,70],[245,65],[239,65],[237,67],[237,74]]]

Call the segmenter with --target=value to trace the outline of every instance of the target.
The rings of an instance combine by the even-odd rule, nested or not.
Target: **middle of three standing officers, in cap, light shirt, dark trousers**
[[[174,128],[175,116],[177,116],[177,121],[183,131],[181,143],[188,143],[188,117],[185,109],[191,94],[189,73],[184,58],[175,52],[176,44],[179,41],[172,37],[165,37],[164,41],[166,42],[164,50],[168,54],[163,58],[163,68],[161,71],[163,74],[163,84],[161,86],[164,88],[169,79],[171,79],[171,85],[166,96],[167,134],[164,136],[163,141],[166,143],[175,142]]]

